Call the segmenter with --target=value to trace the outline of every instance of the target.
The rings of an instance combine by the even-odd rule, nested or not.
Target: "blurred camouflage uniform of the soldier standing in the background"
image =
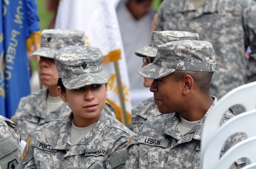
[[[254,0],[206,0],[199,8],[190,0],[164,0],[155,23],[156,31],[194,32],[200,40],[213,45],[218,69],[212,76],[210,93],[218,99],[231,89],[256,80]],[[249,60],[244,57],[247,46],[252,49]]]

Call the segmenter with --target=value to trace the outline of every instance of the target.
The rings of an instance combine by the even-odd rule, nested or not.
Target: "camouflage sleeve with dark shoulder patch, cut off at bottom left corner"
[[[0,168],[16,168],[21,150],[18,140],[13,138],[5,125],[0,126]]]

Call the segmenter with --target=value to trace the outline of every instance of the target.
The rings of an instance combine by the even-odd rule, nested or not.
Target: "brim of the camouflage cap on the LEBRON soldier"
[[[159,79],[165,77],[173,72],[175,69],[167,69],[155,66],[154,63],[150,63],[141,69],[137,70],[137,73],[147,79]]]

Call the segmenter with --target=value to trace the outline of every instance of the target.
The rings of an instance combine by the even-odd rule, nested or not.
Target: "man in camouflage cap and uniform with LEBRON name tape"
[[[137,72],[154,79],[150,91],[162,114],[148,119],[138,138],[127,144],[126,168],[200,168],[204,120],[217,103],[209,93],[215,70],[209,42],[180,40],[158,46],[154,62]],[[225,112],[220,125],[231,117],[231,112]],[[244,137],[243,133],[232,135],[226,149]],[[237,160],[231,167],[240,168],[241,164],[244,161]]]

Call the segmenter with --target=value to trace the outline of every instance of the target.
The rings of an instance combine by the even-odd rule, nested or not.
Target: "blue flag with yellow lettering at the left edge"
[[[26,38],[32,31],[39,31],[37,5],[35,0],[1,0],[0,18],[0,114],[11,118],[19,100],[30,94],[29,65]],[[28,2],[26,2],[28,1]],[[29,9],[27,4],[35,4]],[[32,5],[33,6],[33,5]],[[28,24],[27,11],[36,12],[37,23],[33,29]],[[35,16],[35,15],[34,15]],[[36,18],[34,17],[34,18]]]

